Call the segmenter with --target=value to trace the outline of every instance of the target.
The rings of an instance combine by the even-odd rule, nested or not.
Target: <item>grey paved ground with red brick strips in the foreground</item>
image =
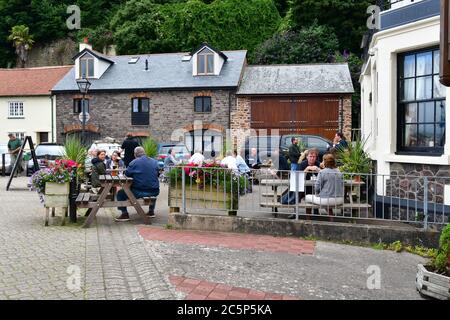
[[[87,230],[43,227],[43,207],[24,188],[27,179],[15,179],[9,192],[6,182],[0,177],[0,299],[238,298],[239,292],[266,298],[421,298],[414,278],[424,259],[408,253],[305,242],[311,252],[295,254],[282,250],[290,240],[272,244],[263,236],[240,241],[244,235],[166,230],[166,214],[156,226],[140,225],[135,215],[131,223],[117,224],[113,210],[101,210]],[[163,212],[166,203],[158,200]],[[367,287],[370,266],[381,272],[378,290]]]

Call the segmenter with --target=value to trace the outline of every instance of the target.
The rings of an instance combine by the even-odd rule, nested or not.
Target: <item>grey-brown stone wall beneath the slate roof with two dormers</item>
[[[211,96],[209,113],[194,112],[194,97]],[[131,124],[131,99],[150,99],[150,125]],[[73,99],[79,94],[56,95],[57,141],[63,142],[65,134],[74,124],[80,124],[78,114],[73,114]],[[193,128],[194,122],[203,127],[225,131],[229,127],[230,104],[235,103],[234,93],[227,90],[216,91],[161,91],[161,92],[109,92],[90,93],[90,120],[88,124],[96,128],[100,138],[112,137],[122,140],[127,132],[149,132],[157,141],[172,141]],[[94,129],[92,129],[94,130]]]

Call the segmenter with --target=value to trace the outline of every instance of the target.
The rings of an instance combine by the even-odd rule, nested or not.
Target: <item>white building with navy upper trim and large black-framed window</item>
[[[439,83],[439,42],[439,0],[396,1],[381,12],[360,77],[362,138],[378,174],[450,176],[450,91]],[[377,193],[386,195],[381,183]],[[438,202],[450,204],[444,189]]]

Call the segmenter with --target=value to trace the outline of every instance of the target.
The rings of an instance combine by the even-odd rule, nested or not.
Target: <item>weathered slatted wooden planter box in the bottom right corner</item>
[[[450,277],[430,272],[421,264],[418,265],[416,288],[423,295],[450,300]]]

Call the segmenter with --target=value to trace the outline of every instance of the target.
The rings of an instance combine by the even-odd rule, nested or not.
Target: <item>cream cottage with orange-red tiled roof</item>
[[[15,133],[34,143],[56,141],[55,99],[50,90],[72,68],[0,69],[0,143]]]

